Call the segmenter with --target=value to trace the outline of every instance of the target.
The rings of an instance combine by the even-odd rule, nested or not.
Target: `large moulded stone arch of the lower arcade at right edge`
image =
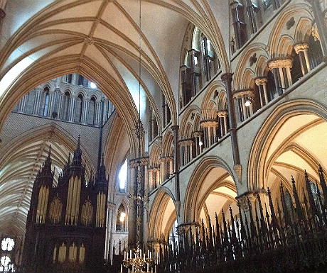
[[[292,120],[292,118],[294,119]],[[297,120],[295,118],[297,118]],[[285,126],[291,123],[291,121],[293,121],[294,126],[286,130]],[[248,189],[266,189],[269,168],[272,167],[277,157],[280,155],[286,156],[286,154],[283,155],[282,153],[288,151],[286,147],[289,147],[289,143],[294,141],[301,132],[318,126],[318,124],[325,124],[326,121],[327,109],[315,101],[296,99],[287,101],[275,108],[269,115],[267,121],[261,126],[256,138],[254,138],[248,165]],[[281,135],[282,133],[283,137]],[[277,136],[279,139],[277,139]],[[303,141],[302,145],[305,145]],[[294,148],[296,146],[291,145],[291,147]],[[306,147],[306,149],[308,148]],[[300,152],[300,150],[296,150],[296,153],[292,156],[301,157],[301,160],[306,161],[304,154],[307,152],[308,151]],[[303,155],[301,155],[301,153]],[[311,160],[307,160],[305,164],[299,164],[301,164],[301,169],[311,168],[309,172],[313,175],[317,172],[317,170],[314,169],[314,167],[316,167],[314,165],[317,165],[318,162],[321,165],[324,163],[321,162],[322,160],[318,160],[318,162],[316,159],[313,160],[315,157],[313,155],[311,155],[311,157]],[[282,160],[281,157],[279,158]],[[301,162],[301,160],[298,161]],[[282,161],[287,162],[285,158]],[[313,162],[316,163],[313,164]],[[288,177],[288,179],[290,179],[290,177]]]

